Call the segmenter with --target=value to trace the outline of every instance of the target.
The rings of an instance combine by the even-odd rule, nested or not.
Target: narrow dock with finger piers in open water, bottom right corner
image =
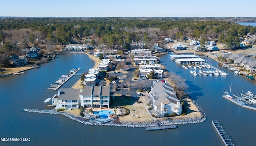
[[[218,120],[212,120],[212,126],[220,136],[225,146],[234,146],[233,141],[231,141],[231,138],[229,138],[228,134],[226,134],[225,130],[223,130],[223,127],[220,125]]]

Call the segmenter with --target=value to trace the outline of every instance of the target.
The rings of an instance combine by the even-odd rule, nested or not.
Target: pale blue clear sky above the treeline
[[[0,0],[4,17],[256,17],[256,0]]]

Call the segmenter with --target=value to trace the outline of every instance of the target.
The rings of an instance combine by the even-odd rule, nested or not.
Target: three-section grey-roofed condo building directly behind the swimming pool
[[[85,86],[81,89],[80,105],[86,107],[108,107],[110,102],[110,87]]]

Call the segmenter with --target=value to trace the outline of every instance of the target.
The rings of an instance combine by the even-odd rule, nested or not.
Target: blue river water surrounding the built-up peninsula
[[[208,58],[205,58],[208,59]],[[30,138],[29,142],[0,141],[1,146],[45,146],[45,145],[223,145],[211,120],[219,120],[237,145],[254,145],[256,111],[243,109],[222,97],[224,90],[232,93],[255,91],[255,82],[223,69],[228,77],[192,76],[169,55],[160,59],[169,71],[186,79],[186,91],[207,114],[206,121],[198,124],[176,125],[171,130],[146,131],[145,128],[108,127],[83,125],[61,115],[24,112],[23,109],[45,109],[44,100],[56,91],[44,91],[58,77],[72,67],[82,68],[84,73],[94,66],[86,54],[68,53],[45,63],[39,69],[25,71],[22,75],[11,75],[0,79],[0,137]],[[209,63],[217,63],[208,59]],[[80,78],[73,76],[62,88],[74,85]]]

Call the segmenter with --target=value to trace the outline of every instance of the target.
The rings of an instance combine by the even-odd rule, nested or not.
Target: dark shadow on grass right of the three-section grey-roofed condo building
[[[134,97],[121,97],[121,96],[115,96],[112,107],[118,107],[118,106],[125,106],[125,105],[133,105],[136,103],[137,100],[134,99]]]

